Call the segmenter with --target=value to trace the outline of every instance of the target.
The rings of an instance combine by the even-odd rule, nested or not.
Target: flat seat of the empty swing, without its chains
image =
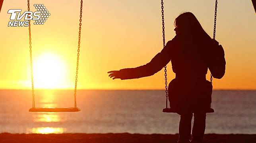
[[[78,107],[71,108],[30,108],[29,112],[78,112],[80,109]]]

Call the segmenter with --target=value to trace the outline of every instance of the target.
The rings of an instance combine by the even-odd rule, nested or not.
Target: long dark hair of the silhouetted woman
[[[174,21],[181,35],[196,41],[209,41],[211,37],[204,31],[195,15],[191,12],[180,14]]]

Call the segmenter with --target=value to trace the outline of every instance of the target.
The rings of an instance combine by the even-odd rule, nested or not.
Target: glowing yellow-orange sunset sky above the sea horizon
[[[34,70],[42,71],[40,61],[45,55],[51,55],[49,59],[57,62],[38,73],[35,87],[74,88],[80,1],[33,0],[31,4],[42,3],[51,15],[44,25],[31,26]],[[214,4],[215,0],[165,0],[166,40],[175,36],[174,19],[184,11],[194,13],[212,36]],[[31,87],[28,27],[8,27],[7,13],[9,9],[25,11],[26,6],[26,0],[3,3],[0,88]],[[256,15],[250,1],[219,1],[216,40],[225,49],[227,66],[223,79],[213,80],[214,89],[256,89],[255,25]],[[160,0],[84,1],[78,88],[163,89],[163,70],[151,77],[123,81],[112,80],[107,74],[110,70],[149,62],[162,49],[161,34]],[[171,64],[167,70],[170,81],[175,77]],[[39,77],[45,80],[41,85]]]

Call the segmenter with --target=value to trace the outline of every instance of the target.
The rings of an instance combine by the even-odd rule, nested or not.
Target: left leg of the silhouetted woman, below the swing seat
[[[178,143],[189,143],[192,116],[192,113],[180,114],[180,124],[178,128]]]

